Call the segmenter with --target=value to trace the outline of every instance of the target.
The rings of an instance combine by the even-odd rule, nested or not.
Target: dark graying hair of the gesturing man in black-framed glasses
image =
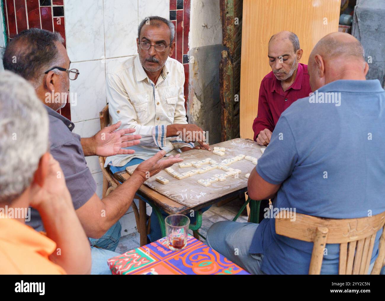
[[[35,88],[42,84],[44,72],[64,63],[56,43],[64,39],[58,32],[30,28],[16,35],[8,44],[3,54],[3,66],[26,80]],[[59,70],[52,70],[59,74]]]

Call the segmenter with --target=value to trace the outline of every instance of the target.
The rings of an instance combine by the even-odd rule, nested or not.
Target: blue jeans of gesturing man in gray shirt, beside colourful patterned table
[[[122,226],[117,221],[104,235],[98,239],[89,238],[91,246],[91,274],[92,275],[107,275],[111,274],[107,264],[107,259],[119,255],[114,252],[119,244]],[[97,248],[96,248],[97,247]]]

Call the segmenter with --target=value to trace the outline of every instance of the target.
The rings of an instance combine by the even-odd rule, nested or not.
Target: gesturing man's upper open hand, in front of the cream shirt
[[[134,150],[125,150],[123,148],[139,144],[139,139],[142,136],[127,135],[134,133],[134,128],[117,130],[121,124],[122,122],[118,121],[114,125],[106,126],[92,137],[97,156],[108,157],[135,153]]]

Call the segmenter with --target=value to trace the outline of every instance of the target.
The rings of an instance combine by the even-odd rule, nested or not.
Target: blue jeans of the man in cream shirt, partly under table
[[[134,159],[131,159],[131,161],[129,161],[124,166],[112,166],[112,165],[109,165],[110,166],[110,171],[112,173],[116,173],[117,171],[126,170],[126,167],[139,164],[139,163],[141,163],[143,161],[144,161],[143,159],[134,158]],[[143,201],[145,201],[146,203],[148,203],[148,201],[145,198],[141,197],[141,199]],[[203,213],[204,211],[209,210],[210,207],[211,206],[207,206],[207,207],[202,208],[201,212]],[[161,208],[158,208],[158,209],[159,209],[159,211],[161,211],[163,219],[165,219],[168,216],[168,214],[165,211],[163,211]],[[190,217],[190,223],[194,224],[195,222],[196,222],[196,216]],[[150,239],[150,241],[156,241],[156,240],[162,238],[161,225],[159,224],[158,216],[156,215],[154,210],[152,210],[152,213],[151,213],[150,234],[147,235],[147,237]]]

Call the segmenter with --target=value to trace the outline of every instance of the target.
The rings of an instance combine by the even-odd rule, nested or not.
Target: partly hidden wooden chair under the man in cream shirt
[[[105,128],[110,123],[110,115],[108,113],[108,104],[103,108],[103,110],[99,113],[100,118],[100,129]],[[114,190],[117,186],[121,185],[119,181],[115,180],[112,175],[109,167],[104,167],[105,158],[99,156],[99,164],[103,173],[103,190],[102,197],[109,195],[109,193]],[[139,229],[139,211],[134,201],[132,201],[132,210],[134,211],[136,227]]]

